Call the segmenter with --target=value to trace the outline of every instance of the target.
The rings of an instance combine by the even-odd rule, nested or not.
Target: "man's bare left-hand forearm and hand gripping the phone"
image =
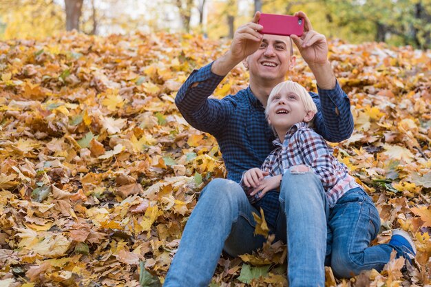
[[[253,20],[240,26],[233,35],[231,49],[215,60],[211,67],[211,72],[219,76],[227,75],[233,67],[238,65],[247,56],[253,54],[260,47],[263,35],[257,31],[263,29],[262,25],[257,24],[260,19],[260,12],[257,11]]]

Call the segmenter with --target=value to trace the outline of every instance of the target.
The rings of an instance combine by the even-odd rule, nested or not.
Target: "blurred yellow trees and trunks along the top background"
[[[231,38],[255,10],[303,10],[315,30],[350,43],[431,46],[431,0],[0,0],[0,39],[165,30]]]

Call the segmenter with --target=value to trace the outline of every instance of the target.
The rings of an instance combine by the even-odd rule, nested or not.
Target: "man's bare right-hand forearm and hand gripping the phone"
[[[291,35],[291,39],[313,72],[317,85],[321,89],[333,89],[337,79],[328,61],[326,37],[313,30],[311,21],[304,12],[296,12],[295,16],[304,19],[304,34],[300,38],[296,35]]]

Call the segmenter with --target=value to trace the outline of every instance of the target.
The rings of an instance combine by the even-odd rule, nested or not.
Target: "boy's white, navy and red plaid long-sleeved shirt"
[[[268,171],[269,176],[277,176],[295,165],[307,165],[320,178],[330,207],[344,193],[360,187],[348,173],[346,165],[333,156],[332,147],[307,123],[293,125],[283,142],[277,138],[273,144],[276,147],[262,164],[262,171]]]

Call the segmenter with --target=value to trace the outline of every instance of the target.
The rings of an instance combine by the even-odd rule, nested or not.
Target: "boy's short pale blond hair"
[[[311,98],[310,94],[308,94],[307,90],[302,87],[302,85],[299,85],[296,82],[293,81],[284,81],[278,85],[276,85],[273,90],[271,91],[271,94],[269,94],[268,102],[266,102],[266,108],[265,108],[265,117],[266,120],[268,120],[269,116],[269,104],[273,101],[273,98],[275,95],[281,94],[282,92],[288,93],[293,92],[299,98],[302,100],[302,103],[304,104],[305,111],[313,111],[314,114],[317,114],[317,107],[314,103],[313,98]],[[308,125],[312,125],[313,120],[311,120]]]

